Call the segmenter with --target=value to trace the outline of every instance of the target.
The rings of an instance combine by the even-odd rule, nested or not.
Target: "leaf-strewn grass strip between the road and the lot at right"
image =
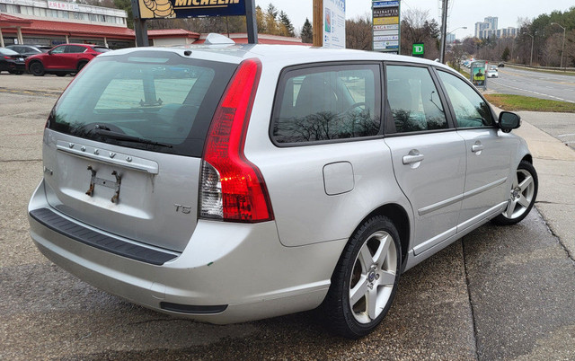
[[[549,111],[575,113],[575,103],[567,101],[550,101],[512,94],[484,94],[485,99],[502,110]]]

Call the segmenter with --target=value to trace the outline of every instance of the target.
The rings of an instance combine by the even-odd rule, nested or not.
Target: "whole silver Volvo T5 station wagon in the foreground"
[[[534,205],[526,142],[447,66],[298,46],[131,48],[49,115],[31,238],[113,295],[198,321],[318,306],[358,338],[399,277]]]

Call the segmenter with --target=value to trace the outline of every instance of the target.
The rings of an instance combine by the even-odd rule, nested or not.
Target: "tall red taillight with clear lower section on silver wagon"
[[[273,219],[261,172],[243,154],[260,75],[258,59],[244,60],[217,107],[204,147],[200,217],[248,223]]]

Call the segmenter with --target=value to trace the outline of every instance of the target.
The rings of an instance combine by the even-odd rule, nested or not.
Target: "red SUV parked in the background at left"
[[[47,53],[27,57],[26,70],[36,76],[75,74],[82,70],[93,57],[107,51],[110,49],[97,45],[62,44],[50,49]]]

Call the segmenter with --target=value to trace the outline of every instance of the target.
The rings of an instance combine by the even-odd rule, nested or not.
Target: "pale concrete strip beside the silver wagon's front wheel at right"
[[[499,113],[498,108],[494,109]],[[529,124],[537,117],[564,117],[561,113],[517,112],[521,127],[513,133],[522,136],[533,155],[539,178],[535,207],[544,216],[551,231],[575,260],[575,151],[562,141]],[[575,114],[573,115],[575,118]]]

